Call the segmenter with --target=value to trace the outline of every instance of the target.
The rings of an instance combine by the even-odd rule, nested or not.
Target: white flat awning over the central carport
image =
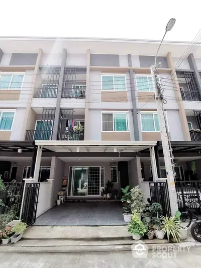
[[[41,141],[35,144],[54,152],[139,152],[156,145],[156,141]]]

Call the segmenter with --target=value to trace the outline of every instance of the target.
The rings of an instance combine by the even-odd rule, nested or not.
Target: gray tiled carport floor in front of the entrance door
[[[55,206],[35,225],[125,225],[122,202],[67,202]]]

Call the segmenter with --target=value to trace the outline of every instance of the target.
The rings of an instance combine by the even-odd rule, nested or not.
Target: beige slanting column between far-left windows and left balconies
[[[39,67],[41,65],[42,57],[43,57],[43,50],[40,48],[39,52],[38,52],[38,57],[36,60],[36,65],[34,68],[32,83],[30,86],[30,93],[28,96],[27,108],[26,108],[26,112],[25,112],[25,118],[24,118],[24,123],[23,123],[23,127],[22,127],[22,134],[21,134],[20,140],[25,140],[27,122],[29,121],[29,118],[31,116],[31,109],[32,109],[31,108],[31,101],[32,101],[32,98],[34,95],[34,87],[35,87],[36,78],[37,78],[37,75],[40,74]]]

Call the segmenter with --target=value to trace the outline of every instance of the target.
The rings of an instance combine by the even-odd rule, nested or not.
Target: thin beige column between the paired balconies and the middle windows
[[[88,109],[89,109],[89,79],[90,79],[90,49],[87,49],[86,63],[86,92],[85,92],[85,115],[84,115],[84,140],[88,140],[89,125],[88,125]]]

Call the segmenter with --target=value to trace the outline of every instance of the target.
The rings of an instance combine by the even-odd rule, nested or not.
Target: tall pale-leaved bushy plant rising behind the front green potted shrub
[[[139,219],[141,219],[143,211],[146,207],[145,203],[143,202],[143,195],[144,194],[139,186],[131,189],[131,212],[132,214],[138,214]]]

